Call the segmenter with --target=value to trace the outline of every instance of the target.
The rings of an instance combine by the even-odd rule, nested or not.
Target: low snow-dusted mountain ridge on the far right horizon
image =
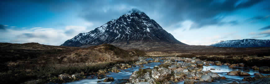
[[[243,40],[227,40],[220,43],[212,44],[215,47],[270,47],[270,40],[243,39]]]

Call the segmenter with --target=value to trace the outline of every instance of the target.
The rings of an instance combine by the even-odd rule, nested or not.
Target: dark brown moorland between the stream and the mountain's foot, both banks
[[[118,47],[115,47],[115,46]],[[121,49],[123,48],[123,49]],[[124,50],[125,49],[125,50]],[[102,44],[88,48],[50,46],[38,43],[0,43],[0,79],[3,83],[39,80],[47,83],[62,73],[89,75],[115,64],[132,64],[138,57],[197,57],[246,66],[269,66],[270,48],[223,48],[179,44]],[[61,81],[61,80],[60,80]]]

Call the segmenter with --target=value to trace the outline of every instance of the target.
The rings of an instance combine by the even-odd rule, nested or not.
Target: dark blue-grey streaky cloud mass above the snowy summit
[[[93,23],[104,24],[127,13],[132,8],[145,12],[162,27],[170,27],[179,22],[191,20],[191,29],[209,25],[223,25],[222,20],[236,10],[249,8],[263,0],[11,0],[20,4],[34,2],[48,6],[50,10],[61,12],[70,10],[79,17]],[[5,2],[11,2],[5,1]],[[231,22],[236,24],[235,22]]]

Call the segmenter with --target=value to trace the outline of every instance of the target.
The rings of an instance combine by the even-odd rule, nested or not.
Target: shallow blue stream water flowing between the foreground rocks
[[[146,60],[153,60],[151,58],[148,58]],[[160,60],[163,61],[163,60]],[[180,63],[180,62],[178,62]],[[154,66],[160,65],[160,62],[152,62],[149,64],[143,64],[142,69],[146,69],[146,68],[151,68],[153,69]],[[137,65],[136,67],[132,67],[132,68],[128,68],[128,69],[124,69],[121,70],[121,72],[119,73],[113,73],[110,72],[109,75],[106,75],[107,77],[113,77],[115,78],[115,80],[117,79],[128,79],[129,76],[134,72],[134,71],[138,71],[139,70],[140,65]],[[215,70],[210,70],[211,68],[215,69]],[[231,76],[231,75],[226,75],[227,72],[230,71],[243,71],[246,73],[250,74],[250,77],[254,77],[254,73],[259,73],[259,71],[255,71],[253,69],[251,69],[250,67],[228,67],[227,65],[211,65],[211,66],[203,66],[203,71],[207,71],[210,70],[212,72],[218,73],[219,76],[224,76],[226,77],[225,80],[222,79],[215,79],[214,82],[199,82],[200,84],[220,84],[220,83],[230,83],[230,82],[243,82],[241,81],[245,76]],[[250,71],[245,71],[245,70],[250,70]],[[263,74],[263,73],[261,73]],[[263,74],[263,75],[268,75],[268,74]],[[97,84],[97,81],[103,81],[105,78],[103,79],[97,79],[97,78],[92,78],[92,79],[83,79],[83,80],[79,80],[79,81],[75,81],[75,82],[68,82],[66,84]],[[99,83],[110,83],[110,82],[99,82]],[[184,81],[181,82],[177,82],[178,84],[184,84]]]

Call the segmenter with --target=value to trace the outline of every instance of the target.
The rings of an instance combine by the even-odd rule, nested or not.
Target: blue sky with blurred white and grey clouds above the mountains
[[[270,39],[270,0],[1,0],[0,42],[61,45],[133,8],[189,45]]]

